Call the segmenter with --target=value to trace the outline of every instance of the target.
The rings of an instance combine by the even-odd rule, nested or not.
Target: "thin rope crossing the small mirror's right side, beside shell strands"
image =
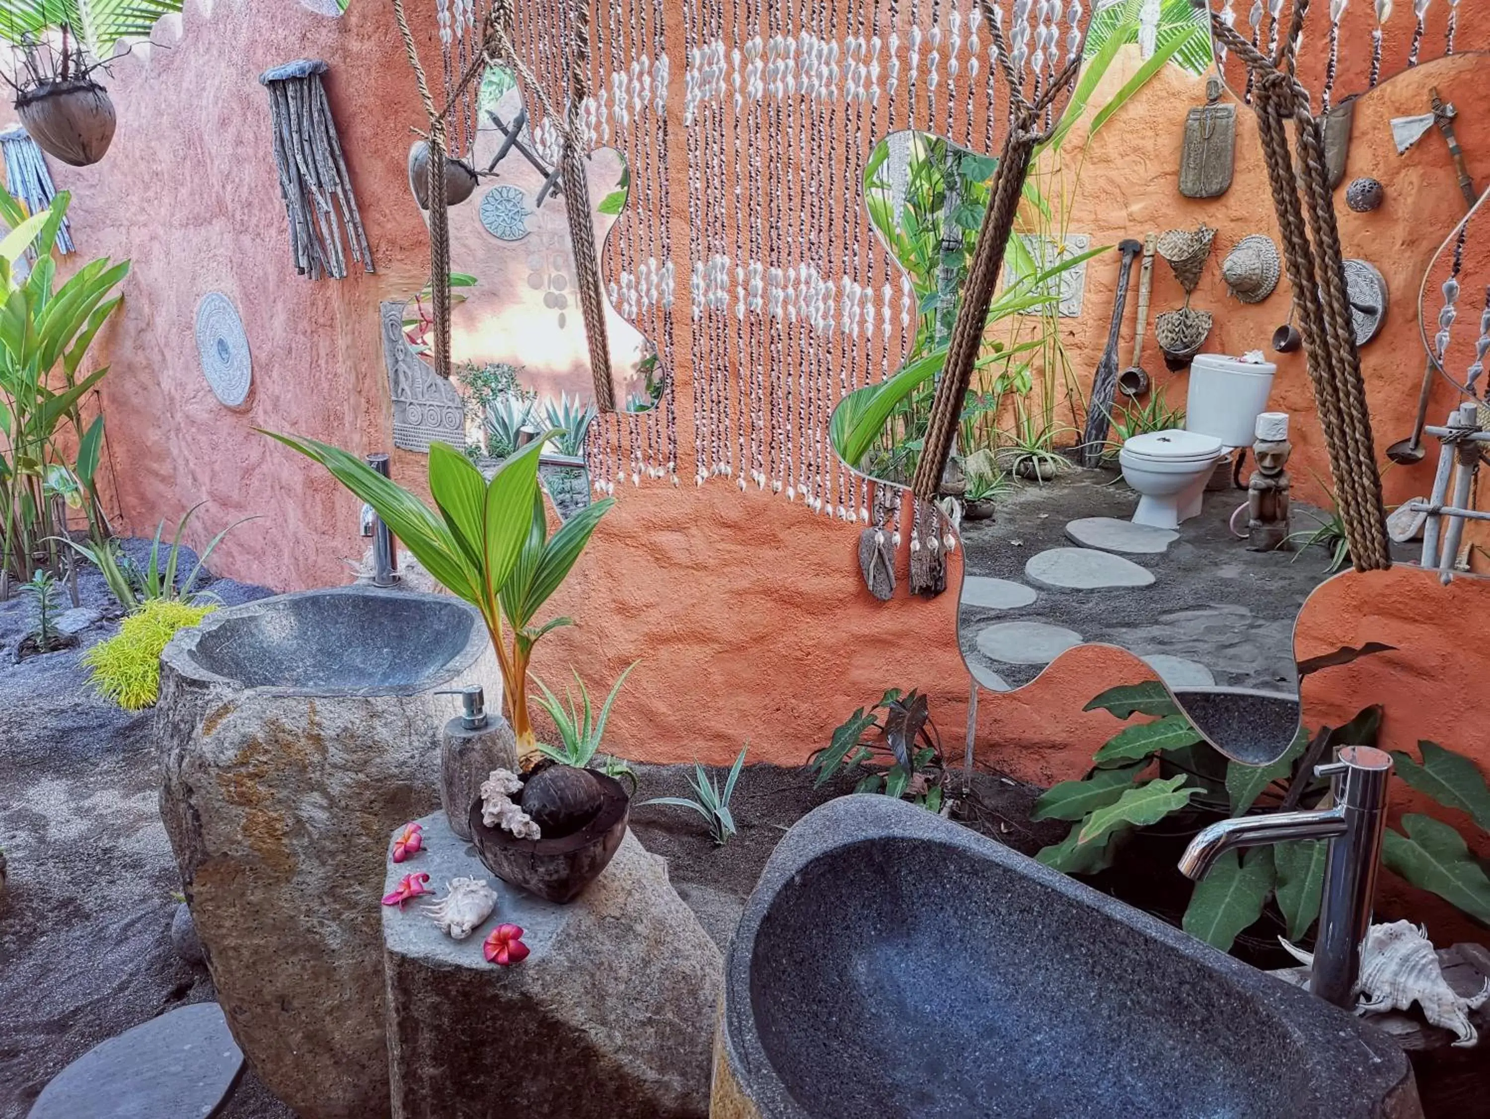
[[[595,252],[595,219],[590,215],[590,185],[581,158],[580,109],[590,94],[590,0],[574,0],[574,42],[569,55],[569,118],[563,137],[563,209],[569,219],[574,249],[575,285],[584,340],[590,349],[590,374],[595,380],[595,407],[615,411],[615,383],[611,377],[611,341],[605,329],[605,301],[600,295],[600,262]]]

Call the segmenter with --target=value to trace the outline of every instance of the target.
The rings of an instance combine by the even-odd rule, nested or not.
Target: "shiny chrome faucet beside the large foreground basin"
[[[1356,998],[1360,945],[1371,928],[1371,901],[1377,891],[1381,837],[1387,822],[1392,755],[1375,746],[1344,746],[1335,761],[1316,766],[1314,775],[1332,779],[1332,808],[1240,817],[1211,824],[1185,848],[1180,872],[1198,881],[1232,848],[1290,839],[1329,840],[1310,991],[1348,1010]]]

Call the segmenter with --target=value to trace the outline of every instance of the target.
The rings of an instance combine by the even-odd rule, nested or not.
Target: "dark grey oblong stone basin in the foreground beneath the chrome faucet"
[[[1384,1034],[882,796],[782,839],[726,961],[715,1119],[1420,1116]]]

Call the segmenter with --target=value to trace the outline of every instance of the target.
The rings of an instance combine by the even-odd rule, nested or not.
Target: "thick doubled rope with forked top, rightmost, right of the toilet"
[[[1392,554],[1360,353],[1345,292],[1340,229],[1325,170],[1323,125],[1310,112],[1308,92],[1292,73],[1293,49],[1307,10],[1308,0],[1298,0],[1290,34],[1272,58],[1262,55],[1216,13],[1211,15],[1211,25],[1217,40],[1243,58],[1255,79],[1253,110],[1283,234],[1283,258],[1293,286],[1310,381],[1329,450],[1335,502],[1356,569],[1375,571],[1392,566]],[[1296,134],[1296,164],[1295,152],[1289,150],[1289,121]]]

